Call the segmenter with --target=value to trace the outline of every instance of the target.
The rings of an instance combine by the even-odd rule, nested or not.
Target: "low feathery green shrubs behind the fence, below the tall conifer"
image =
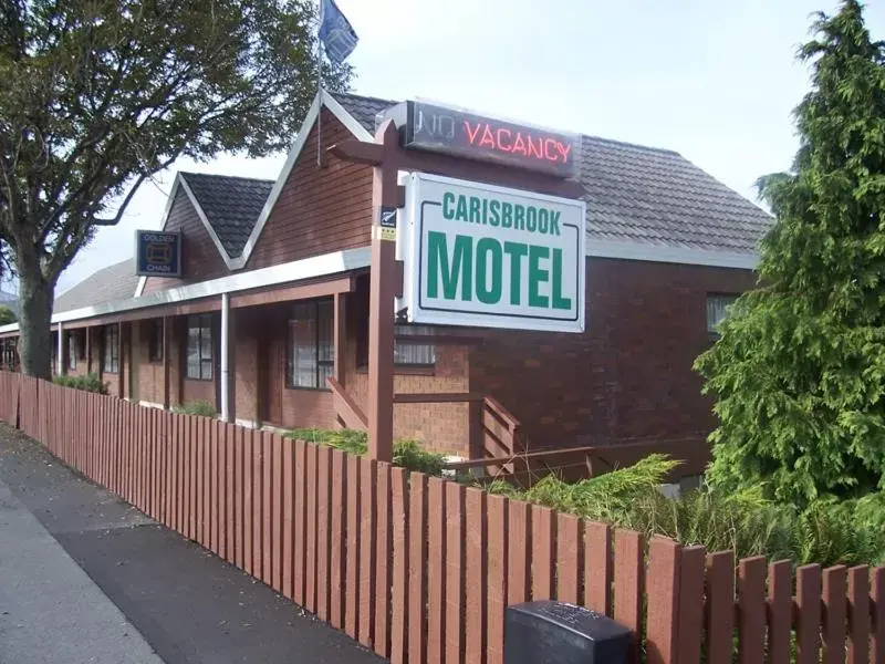
[[[805,509],[774,502],[764,487],[723,492],[707,486],[667,498],[658,486],[673,461],[650,455],[634,466],[568,484],[548,476],[529,490],[496,480],[487,490],[587,519],[663,535],[738,558],[796,564],[877,564],[885,559],[885,496],[820,499]]]

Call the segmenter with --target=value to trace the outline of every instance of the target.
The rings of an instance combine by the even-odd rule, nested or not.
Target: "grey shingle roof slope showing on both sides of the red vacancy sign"
[[[397,102],[333,96],[369,132]],[[772,217],[676,152],[581,135],[591,241],[752,253]]]

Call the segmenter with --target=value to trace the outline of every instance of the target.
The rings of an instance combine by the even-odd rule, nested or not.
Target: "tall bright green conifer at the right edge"
[[[818,13],[799,51],[812,87],[791,172],[758,181],[775,215],[759,284],[696,362],[719,419],[709,481],[800,506],[885,480],[885,46],[862,12]]]

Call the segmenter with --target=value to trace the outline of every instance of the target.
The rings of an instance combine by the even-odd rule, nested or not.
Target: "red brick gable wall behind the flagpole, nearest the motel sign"
[[[329,111],[322,116],[323,145],[352,134]],[[263,268],[369,243],[372,169],[326,154],[316,165],[316,126],[308,135],[247,269]]]

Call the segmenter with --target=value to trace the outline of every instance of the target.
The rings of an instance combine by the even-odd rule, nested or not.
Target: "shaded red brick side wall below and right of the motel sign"
[[[712,426],[691,365],[708,347],[706,298],[746,270],[589,259],[584,334],[488,331],[470,387],[498,398],[535,446],[698,438]]]

